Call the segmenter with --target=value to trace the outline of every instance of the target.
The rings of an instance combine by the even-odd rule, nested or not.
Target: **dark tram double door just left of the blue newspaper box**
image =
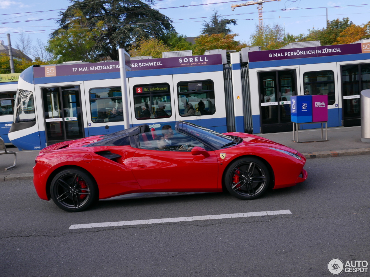
[[[292,131],[290,97],[297,95],[296,70],[259,72],[262,133]]]

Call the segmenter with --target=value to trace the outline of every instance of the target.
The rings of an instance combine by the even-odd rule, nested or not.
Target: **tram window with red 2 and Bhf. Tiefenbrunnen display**
[[[135,85],[133,94],[136,119],[171,117],[171,95],[168,83]]]

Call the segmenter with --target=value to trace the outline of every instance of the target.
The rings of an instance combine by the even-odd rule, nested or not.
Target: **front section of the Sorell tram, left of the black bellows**
[[[219,62],[212,65],[128,71],[130,126],[148,124],[161,131],[186,120],[226,132],[224,69],[218,56]],[[9,133],[12,143],[23,150],[38,150],[59,141],[122,130],[118,62],[102,64],[33,66],[23,71]]]

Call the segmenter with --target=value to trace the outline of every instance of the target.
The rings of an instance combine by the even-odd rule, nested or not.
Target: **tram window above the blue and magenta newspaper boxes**
[[[313,71],[303,74],[305,95],[327,94],[328,105],[335,103],[334,72]]]

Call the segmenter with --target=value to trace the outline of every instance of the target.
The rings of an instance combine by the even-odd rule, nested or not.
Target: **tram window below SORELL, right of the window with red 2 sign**
[[[216,112],[212,80],[177,83],[180,116],[210,115]]]

